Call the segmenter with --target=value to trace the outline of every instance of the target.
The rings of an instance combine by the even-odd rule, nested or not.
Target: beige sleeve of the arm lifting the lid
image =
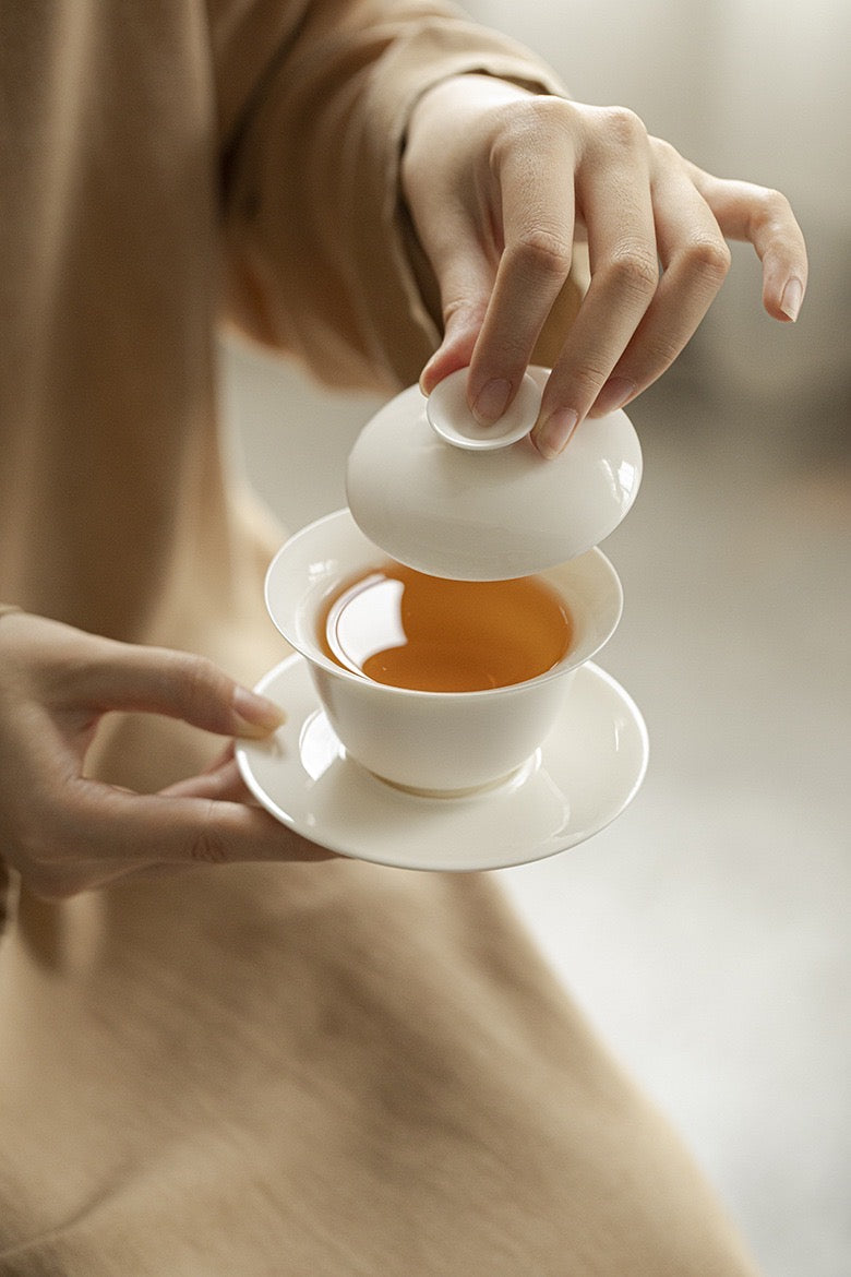
[[[430,0],[302,0],[296,13],[222,0],[213,40],[227,318],[325,383],[415,382],[439,333],[399,195],[413,105],[470,72],[564,88],[514,41]]]

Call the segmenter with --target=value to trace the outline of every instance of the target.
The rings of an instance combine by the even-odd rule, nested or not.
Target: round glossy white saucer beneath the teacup
[[[626,807],[647,770],[644,722],[602,669],[582,665],[561,722],[536,756],[486,793],[424,798],[347,757],[301,656],[258,683],[287,713],[264,741],[240,741],[251,793],[285,825],[330,850],[408,870],[494,870],[554,856]]]

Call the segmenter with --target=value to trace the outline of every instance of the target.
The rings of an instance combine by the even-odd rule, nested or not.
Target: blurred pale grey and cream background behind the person
[[[629,415],[644,483],[606,541],[601,663],[651,767],[629,811],[500,873],[573,996],[665,1108],[767,1277],[851,1273],[851,6],[468,0],[573,94],[633,107],[723,176],[778,186],[810,249],[796,326],[736,248],[721,298]],[[290,529],[344,504],[378,401],[236,342],[241,464]]]

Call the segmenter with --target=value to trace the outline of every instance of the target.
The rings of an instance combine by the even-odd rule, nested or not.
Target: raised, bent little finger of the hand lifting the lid
[[[786,197],[689,167],[725,236],[753,244],[763,264],[763,305],[768,314],[785,322],[797,319],[806,292],[806,244]]]

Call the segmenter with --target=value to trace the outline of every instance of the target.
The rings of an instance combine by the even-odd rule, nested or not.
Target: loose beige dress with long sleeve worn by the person
[[[558,89],[427,0],[0,5],[0,599],[245,681],[279,659],[216,326],[416,379],[397,158],[472,69]],[[92,766],[152,789],[218,747],[115,718]],[[45,903],[13,875],[8,903],[1,1277],[753,1272],[487,876],[198,867]]]

